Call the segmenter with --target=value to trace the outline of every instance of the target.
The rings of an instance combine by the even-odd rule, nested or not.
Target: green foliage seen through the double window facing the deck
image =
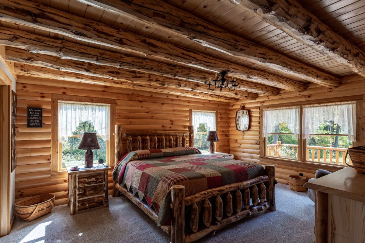
[[[288,128],[286,122],[280,122],[276,125],[274,133],[292,133]],[[319,128],[315,131],[317,134],[345,134],[337,123],[333,121],[325,121],[319,125]],[[297,145],[298,140],[291,134],[271,134],[267,137],[267,144],[277,144],[280,141],[281,144]],[[320,146],[328,148],[349,148],[352,142],[349,141],[347,136],[330,136],[330,135],[315,135],[307,140],[307,146]],[[297,159],[297,148],[292,150],[292,146],[281,146],[280,157]],[[309,149],[309,158],[312,160],[312,153],[314,152],[315,161],[318,161],[318,150]],[[346,152],[339,152],[339,164],[342,164],[342,156],[345,156]],[[336,151],[332,150],[333,163],[335,163]],[[326,150],[327,162],[330,161],[330,150]],[[324,150],[320,149],[320,161],[324,162]],[[349,158],[347,158],[349,161]]]

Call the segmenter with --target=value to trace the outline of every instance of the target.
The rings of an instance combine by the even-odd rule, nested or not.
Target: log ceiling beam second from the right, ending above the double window
[[[327,87],[338,87],[341,80],[288,56],[250,42],[176,8],[163,0],[78,0],[143,24],[163,29],[225,54],[303,78]]]

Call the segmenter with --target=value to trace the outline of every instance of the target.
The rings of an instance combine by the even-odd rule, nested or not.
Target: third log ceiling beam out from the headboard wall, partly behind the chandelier
[[[66,40],[56,40],[5,27],[0,29],[0,44],[21,48],[30,53],[57,56],[61,59],[89,62],[131,71],[140,71],[151,75],[192,81],[201,84],[207,81],[209,77],[214,77],[214,74],[208,72],[136,58],[120,53],[83,46]],[[279,89],[275,87],[243,80],[238,80],[238,83],[239,86],[236,88],[237,90],[265,95],[279,94]]]

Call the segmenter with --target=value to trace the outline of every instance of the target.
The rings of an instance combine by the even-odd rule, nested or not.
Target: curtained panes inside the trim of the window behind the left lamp
[[[85,150],[78,149],[82,134],[95,132],[100,149],[93,151],[94,164],[107,162],[110,141],[110,104],[58,102],[58,142],[61,169],[84,165]]]

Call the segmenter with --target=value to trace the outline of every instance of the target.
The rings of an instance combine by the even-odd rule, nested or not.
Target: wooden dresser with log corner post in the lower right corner
[[[347,167],[304,187],[315,190],[316,243],[365,243],[365,175]]]

